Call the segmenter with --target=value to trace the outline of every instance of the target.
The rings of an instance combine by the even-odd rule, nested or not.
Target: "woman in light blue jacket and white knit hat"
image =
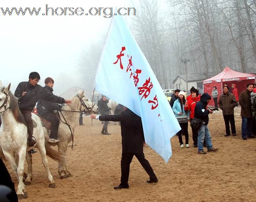
[[[189,111],[185,111],[184,106],[186,103],[185,99],[186,93],[184,91],[180,91],[179,98],[175,100],[173,104],[173,112],[180,124],[181,130],[178,132],[180,148],[184,148],[183,141],[182,141],[182,134],[185,135],[186,140],[186,147],[189,148],[188,144],[188,120],[189,120]]]

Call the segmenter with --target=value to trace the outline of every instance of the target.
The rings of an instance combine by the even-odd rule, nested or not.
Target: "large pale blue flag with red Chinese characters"
[[[152,56],[153,57],[153,56]],[[139,115],[146,143],[167,163],[180,125],[147,59],[121,16],[113,17],[95,78],[95,90]]]

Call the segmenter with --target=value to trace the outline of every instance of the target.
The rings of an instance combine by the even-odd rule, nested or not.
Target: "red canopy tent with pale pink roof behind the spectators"
[[[221,73],[203,81],[204,93],[208,93],[211,96],[213,86],[216,86],[219,99],[219,96],[223,93],[223,85],[225,83],[230,89],[232,83],[236,84],[239,95],[241,91],[246,90],[247,83],[255,83],[255,74],[236,72],[229,67],[225,67],[225,69]],[[211,99],[209,105],[214,106],[213,99]]]

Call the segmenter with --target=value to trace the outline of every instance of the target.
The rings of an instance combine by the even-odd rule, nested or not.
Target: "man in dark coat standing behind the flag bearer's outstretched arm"
[[[98,101],[97,106],[98,110],[100,112],[100,115],[109,115],[109,110],[111,109],[108,107],[108,101],[106,96],[102,95],[102,98]],[[111,133],[108,133],[108,123],[109,121],[104,121],[104,125],[101,130],[101,134],[103,135],[111,135]]]

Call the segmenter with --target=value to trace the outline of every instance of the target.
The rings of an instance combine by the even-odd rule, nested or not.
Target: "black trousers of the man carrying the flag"
[[[150,180],[157,180],[157,177],[149,164],[148,160],[145,159],[144,153],[122,153],[121,159],[121,183],[122,186],[128,186],[128,178],[130,172],[130,163],[132,162],[132,158],[136,156],[139,163],[141,163],[142,167],[146,170],[149,175]]]

